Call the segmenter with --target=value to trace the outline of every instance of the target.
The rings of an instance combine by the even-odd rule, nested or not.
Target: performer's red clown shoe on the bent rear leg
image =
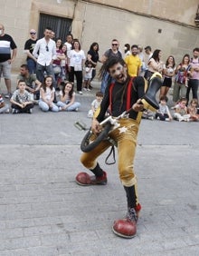
[[[81,186],[106,185],[107,173],[103,171],[103,176],[96,177],[95,175],[90,176],[87,172],[80,172],[76,176],[75,181]]]

